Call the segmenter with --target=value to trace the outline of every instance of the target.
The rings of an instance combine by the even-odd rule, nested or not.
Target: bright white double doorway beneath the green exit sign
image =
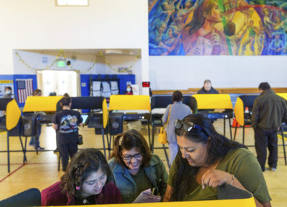
[[[71,70],[37,70],[37,85],[47,97],[50,92],[57,96],[68,93],[70,97],[81,96],[79,72]]]

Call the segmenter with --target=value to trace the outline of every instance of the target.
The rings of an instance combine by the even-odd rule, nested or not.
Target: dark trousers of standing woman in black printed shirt
[[[78,140],[74,135],[71,137],[61,137],[61,135],[58,135],[57,138],[57,146],[61,156],[63,171],[66,171],[69,155],[72,159],[72,156],[78,151]]]

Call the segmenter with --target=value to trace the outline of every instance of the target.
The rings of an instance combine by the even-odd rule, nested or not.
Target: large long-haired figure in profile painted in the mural
[[[182,42],[186,55],[226,55],[226,38],[215,28],[221,23],[221,11],[216,0],[201,1],[192,21],[184,28]]]

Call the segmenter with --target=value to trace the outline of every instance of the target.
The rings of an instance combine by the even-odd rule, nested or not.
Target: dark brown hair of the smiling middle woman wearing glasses
[[[122,137],[122,139],[121,139]],[[119,144],[119,140],[121,139],[121,144]],[[139,152],[143,155],[142,166],[146,167],[150,163],[150,158],[152,154],[150,152],[150,148],[148,147],[148,143],[146,139],[141,135],[137,130],[128,130],[123,132],[123,134],[117,135],[115,138],[115,146],[110,158],[115,157],[117,163],[122,166],[126,166],[121,158],[121,153],[123,149],[131,150],[132,148],[137,148]]]

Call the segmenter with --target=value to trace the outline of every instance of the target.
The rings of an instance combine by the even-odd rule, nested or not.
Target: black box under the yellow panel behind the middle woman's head
[[[110,113],[108,121],[110,135],[117,135],[123,132],[123,113]]]

